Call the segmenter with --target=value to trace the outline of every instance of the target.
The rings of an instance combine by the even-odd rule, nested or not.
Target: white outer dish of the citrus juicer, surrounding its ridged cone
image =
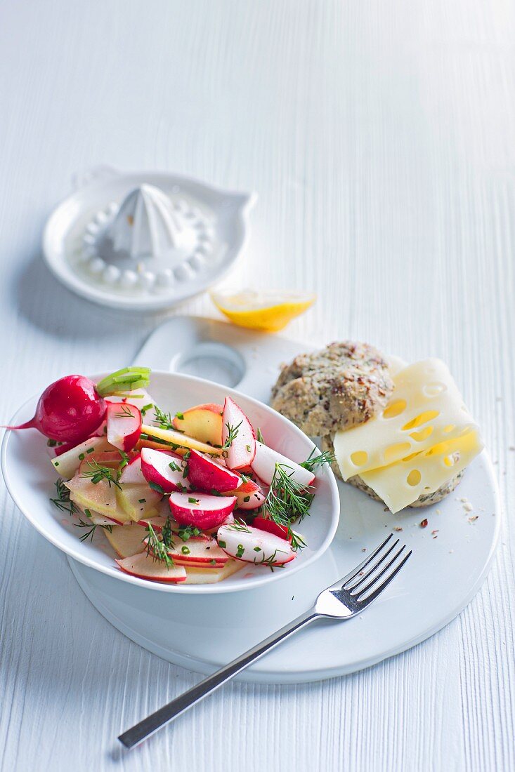
[[[173,201],[189,205],[192,216],[206,222],[213,232],[210,251],[201,262],[188,261],[169,287],[155,291],[121,288],[99,283],[84,271],[81,262],[84,235],[100,212],[121,200],[138,185],[148,183],[161,188]],[[244,248],[248,233],[248,213],[255,194],[223,191],[194,178],[165,171],[122,173],[109,167],[92,169],[76,180],[76,190],[58,205],[46,222],[43,256],[49,269],[64,285],[87,300],[112,308],[157,310],[203,292],[218,282]],[[196,215],[196,216],[197,216]]]

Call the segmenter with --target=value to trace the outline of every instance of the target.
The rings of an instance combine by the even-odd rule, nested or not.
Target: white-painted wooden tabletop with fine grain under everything
[[[119,731],[199,676],[111,628],[3,489],[2,772],[515,769],[514,45],[510,0],[4,0],[0,418],[131,361],[162,320],[79,300],[39,252],[74,171],[169,168],[258,191],[237,277],[319,293],[292,337],[448,361],[508,518],[483,590],[428,642],[229,687],[128,754]]]

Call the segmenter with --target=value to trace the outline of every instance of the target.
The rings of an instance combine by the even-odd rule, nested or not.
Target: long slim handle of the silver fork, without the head
[[[224,683],[230,681],[235,675],[251,665],[252,662],[255,662],[266,654],[266,652],[269,652],[271,648],[274,648],[278,643],[284,641],[285,638],[289,638],[295,631],[305,627],[305,625],[309,625],[310,622],[318,617],[319,614],[312,608],[309,611],[306,611],[305,614],[288,622],[288,625],[285,625],[283,628],[273,633],[273,635],[265,638],[263,642],[258,643],[253,648],[249,648],[247,652],[244,652],[244,654],[237,657],[237,659],[229,662],[228,665],[220,668],[220,670],[214,672],[213,675],[208,675],[206,679],[196,686],[193,686],[192,689],[184,692],[184,694],[176,699],[172,699],[171,703],[159,708],[155,713],[152,713],[150,716],[147,716],[146,719],[143,719],[135,724],[135,726],[132,726],[131,729],[121,734],[118,737],[118,740],[120,740],[126,748],[135,747],[135,745],[138,745],[142,740],[145,740],[147,737],[157,732],[157,730],[162,726],[165,726],[169,721],[180,716],[185,710],[195,705],[195,703],[200,702],[201,699],[211,692],[214,692],[215,689],[218,689],[220,686],[223,686]]]

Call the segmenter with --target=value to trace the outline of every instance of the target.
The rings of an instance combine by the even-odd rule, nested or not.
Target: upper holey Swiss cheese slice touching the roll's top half
[[[394,376],[394,384],[384,411],[367,423],[336,432],[334,449],[343,479],[356,474],[365,479],[363,472],[477,433],[448,367],[439,359],[405,367]]]

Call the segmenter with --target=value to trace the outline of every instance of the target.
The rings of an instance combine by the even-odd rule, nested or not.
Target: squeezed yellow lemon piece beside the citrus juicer
[[[238,293],[212,292],[211,300],[239,327],[275,333],[312,306],[316,295],[243,289]]]

